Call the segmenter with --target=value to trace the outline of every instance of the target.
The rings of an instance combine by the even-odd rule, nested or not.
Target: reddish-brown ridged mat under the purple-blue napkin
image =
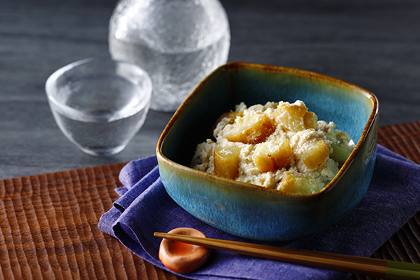
[[[378,142],[420,163],[420,122],[379,128]],[[97,228],[124,163],[0,181],[0,278],[182,279]],[[372,257],[420,263],[420,212]],[[351,279],[370,279],[353,275]]]

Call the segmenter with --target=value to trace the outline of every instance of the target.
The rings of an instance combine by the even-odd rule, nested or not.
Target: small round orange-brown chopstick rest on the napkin
[[[171,234],[205,237],[203,232],[188,227],[178,227]],[[164,266],[178,273],[188,273],[207,262],[211,249],[166,238],[159,247],[159,259]]]

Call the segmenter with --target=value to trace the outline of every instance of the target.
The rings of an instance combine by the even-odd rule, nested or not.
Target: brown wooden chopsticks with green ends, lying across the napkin
[[[154,236],[212,249],[384,279],[420,279],[420,264],[155,232]]]

